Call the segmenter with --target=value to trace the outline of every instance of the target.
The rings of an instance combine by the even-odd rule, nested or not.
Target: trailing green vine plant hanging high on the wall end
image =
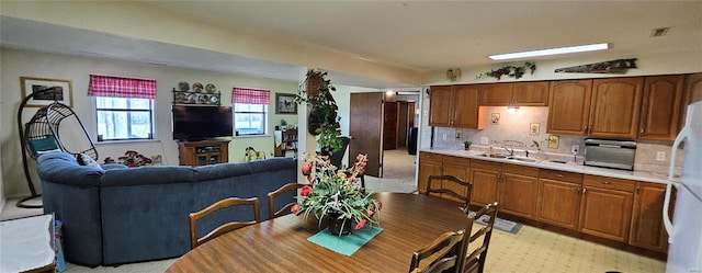
[[[339,106],[331,95],[331,91],[337,89],[331,81],[325,79],[327,72],[315,70],[307,71],[307,80],[299,86],[299,91],[295,95],[296,103],[306,102],[309,105],[307,115],[307,130],[317,136],[322,150],[333,153],[341,150],[341,117],[337,114]]]

